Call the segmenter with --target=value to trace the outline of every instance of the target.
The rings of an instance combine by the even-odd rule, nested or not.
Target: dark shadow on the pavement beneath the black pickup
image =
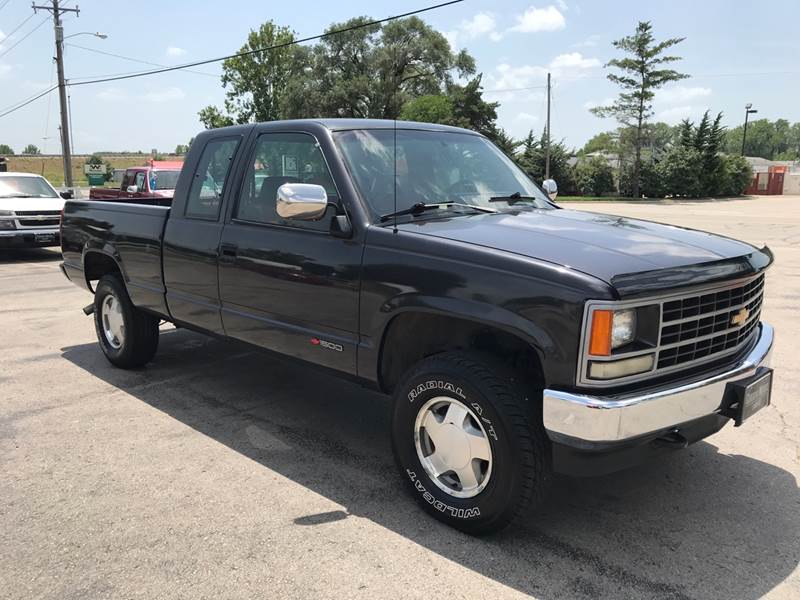
[[[557,479],[544,507],[471,538],[403,493],[389,400],[357,385],[183,330],[161,336],[141,371],[111,367],[96,344],[63,357],[265,468],[343,507],[286,527],[368,518],[422,547],[543,598],[759,598],[800,562],[795,478],[711,443],[596,479]],[[713,438],[712,438],[713,440]]]

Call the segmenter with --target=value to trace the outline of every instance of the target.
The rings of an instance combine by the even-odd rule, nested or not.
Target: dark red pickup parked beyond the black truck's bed
[[[150,166],[131,167],[125,170],[119,189],[92,188],[89,199],[169,206],[182,166],[180,162],[151,161]]]

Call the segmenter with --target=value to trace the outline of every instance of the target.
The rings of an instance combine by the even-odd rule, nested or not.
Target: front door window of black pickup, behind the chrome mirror
[[[328,165],[313,136],[306,133],[264,133],[256,141],[234,218],[328,231],[336,213],[331,206],[317,221],[283,219],[278,215],[278,188],[284,183],[321,185],[328,193],[328,201],[339,203]]]

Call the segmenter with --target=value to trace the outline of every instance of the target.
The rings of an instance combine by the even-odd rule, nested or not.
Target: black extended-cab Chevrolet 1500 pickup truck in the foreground
[[[471,533],[769,403],[769,249],[561,209],[463,129],[206,131],[171,207],[70,201],[61,239],[113,364],[164,320],[392,394],[402,477]]]

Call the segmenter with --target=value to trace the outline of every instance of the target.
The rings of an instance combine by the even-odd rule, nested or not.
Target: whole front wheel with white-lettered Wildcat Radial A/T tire
[[[507,527],[544,499],[551,480],[541,403],[489,364],[461,352],[433,356],[404,376],[394,396],[392,448],[412,495],[473,535]]]

